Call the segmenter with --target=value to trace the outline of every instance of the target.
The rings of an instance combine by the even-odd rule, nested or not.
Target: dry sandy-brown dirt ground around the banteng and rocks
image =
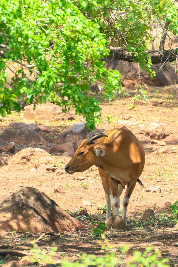
[[[178,229],[169,220],[170,214],[156,214],[156,218],[150,220],[146,228],[140,221],[138,222],[145,209],[151,208],[156,213],[165,202],[174,203],[178,200],[178,142],[173,141],[166,144],[163,148],[167,147],[167,149],[161,152],[158,150],[162,146],[152,144],[149,136],[139,133],[147,127],[148,123],[155,122],[163,125],[170,137],[178,137],[178,101],[175,88],[149,87],[149,101],[136,103],[134,109],[131,108],[133,100],[130,97],[123,99],[117,96],[114,101],[101,104],[103,123],[96,126],[102,131],[108,131],[113,127],[120,128],[125,125],[140,140],[146,155],[144,171],[140,177],[144,189],[137,183],[131,195],[127,211],[128,229],[126,231],[106,232],[106,239],[93,237],[89,231],[92,221],[105,222],[105,214],[101,208],[106,205],[106,201],[97,167],[92,166],[83,173],[66,174],[64,166],[70,159],[67,156],[61,156],[58,162],[61,172],[57,175],[55,172],[46,171],[32,173],[25,169],[23,171],[14,171],[13,169],[4,171],[4,166],[2,166],[0,167],[0,202],[19,190],[20,187],[32,186],[44,192],[72,216],[77,217],[80,209],[87,209],[89,218],[77,217],[88,228],[80,232],[48,233],[44,236],[30,232],[7,232],[0,235],[0,260],[2,259],[5,263],[10,260],[19,262],[22,256],[30,252],[33,240],[36,240],[36,244],[39,248],[44,249],[46,254],[49,249],[57,247],[58,251],[55,252],[55,255],[50,256],[55,263],[62,259],[69,261],[80,259],[84,252],[97,257],[106,252],[106,249],[102,249],[98,242],[101,241],[106,247],[112,247],[109,251],[114,251],[117,258],[121,260],[117,266],[126,266],[126,261],[131,258],[131,255],[121,252],[120,248],[123,245],[139,250],[153,246],[154,251],[161,251],[160,259],[161,257],[169,259],[168,266],[178,266]],[[132,93],[131,90],[130,95]],[[110,117],[110,123],[108,123],[107,116]],[[4,129],[5,121],[9,123],[10,120],[12,119],[7,117],[0,122],[1,131]],[[53,133],[44,134],[44,139],[52,142],[54,136],[56,137],[60,133],[59,128],[66,129],[73,123],[63,122],[63,124],[59,123],[60,125],[52,125]],[[158,187],[161,187],[162,192]],[[158,189],[151,193],[155,188]],[[121,203],[123,194],[124,192],[121,195]],[[37,240],[38,238],[39,240]],[[14,250],[14,255],[9,255],[8,251],[4,254],[1,252],[9,248]],[[18,252],[15,253],[15,251]],[[47,262],[43,259],[41,265],[45,265],[45,263]],[[38,264],[36,263],[36,265]],[[32,264],[32,266],[35,265]],[[150,264],[150,266],[157,265]]]

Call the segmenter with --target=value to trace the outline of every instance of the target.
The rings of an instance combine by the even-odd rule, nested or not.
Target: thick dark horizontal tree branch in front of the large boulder
[[[135,55],[132,55],[131,52],[128,52],[126,48],[123,47],[112,47],[107,46],[110,50],[109,58],[133,62],[136,59]],[[163,62],[173,62],[178,58],[178,47],[169,50],[163,51],[148,51],[145,54],[150,55],[152,64],[158,64]]]

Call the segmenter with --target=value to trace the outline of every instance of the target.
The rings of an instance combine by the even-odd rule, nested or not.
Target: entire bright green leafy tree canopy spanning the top
[[[121,92],[120,73],[108,71],[102,59],[123,59],[125,53],[124,60],[137,61],[153,77],[147,50],[154,42],[152,25],[163,29],[160,62],[166,38],[171,42],[164,61],[171,53],[176,60],[168,31],[178,33],[177,7],[171,0],[1,0],[0,114],[52,101],[84,114],[93,130],[101,108],[88,95],[90,85],[101,84],[108,101]]]

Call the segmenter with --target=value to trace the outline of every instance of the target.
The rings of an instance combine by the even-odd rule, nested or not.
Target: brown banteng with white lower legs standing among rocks
[[[85,171],[92,165],[98,166],[107,202],[106,221],[110,217],[111,206],[113,214],[119,214],[120,195],[127,185],[123,198],[123,220],[126,223],[127,206],[136,182],[143,186],[139,177],[144,162],[141,143],[130,130],[122,127],[83,140],[65,166],[65,171],[73,174]]]

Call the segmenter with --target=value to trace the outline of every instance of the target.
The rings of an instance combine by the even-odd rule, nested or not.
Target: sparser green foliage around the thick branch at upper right
[[[95,20],[109,40],[109,57],[138,62],[153,77],[152,63],[175,61],[178,57],[178,2],[175,0],[87,0],[76,1],[91,20]],[[156,36],[152,31],[160,28]],[[170,35],[169,35],[170,34]],[[170,50],[164,50],[165,40]],[[158,51],[150,51],[154,42]],[[176,48],[171,49],[173,45]],[[155,50],[156,47],[154,47]],[[152,49],[151,49],[152,50]]]

